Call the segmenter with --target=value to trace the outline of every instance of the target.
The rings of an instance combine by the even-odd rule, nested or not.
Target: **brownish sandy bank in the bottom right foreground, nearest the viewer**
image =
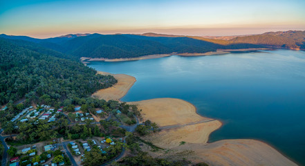
[[[173,148],[177,151],[192,150],[193,162],[209,165],[296,165],[291,160],[258,140],[221,140],[209,144],[185,144]]]

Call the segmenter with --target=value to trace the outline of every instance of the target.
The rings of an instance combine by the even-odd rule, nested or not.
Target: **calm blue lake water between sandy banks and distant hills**
[[[136,77],[122,101],[180,98],[223,122],[210,142],[254,138],[305,165],[305,51],[171,56],[90,67]]]

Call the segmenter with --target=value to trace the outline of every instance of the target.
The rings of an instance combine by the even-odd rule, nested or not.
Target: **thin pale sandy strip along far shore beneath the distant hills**
[[[170,53],[170,54],[156,54],[156,55],[144,55],[141,57],[129,57],[129,58],[117,58],[117,59],[107,59],[104,57],[81,57],[80,60],[84,64],[88,64],[92,61],[104,61],[104,62],[123,62],[123,61],[135,61],[135,60],[142,60],[142,59],[156,59],[160,57],[169,57],[172,55],[178,55],[183,57],[195,57],[195,56],[207,56],[207,55],[223,55],[234,52],[242,52],[242,51],[251,51],[251,50],[270,50],[270,48],[243,48],[243,49],[218,49],[216,51],[211,51],[207,53]]]

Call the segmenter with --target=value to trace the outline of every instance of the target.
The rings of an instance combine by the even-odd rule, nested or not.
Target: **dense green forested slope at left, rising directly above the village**
[[[86,97],[116,82],[110,75],[95,74],[92,68],[62,53],[0,38],[0,105],[21,98],[54,104]]]

